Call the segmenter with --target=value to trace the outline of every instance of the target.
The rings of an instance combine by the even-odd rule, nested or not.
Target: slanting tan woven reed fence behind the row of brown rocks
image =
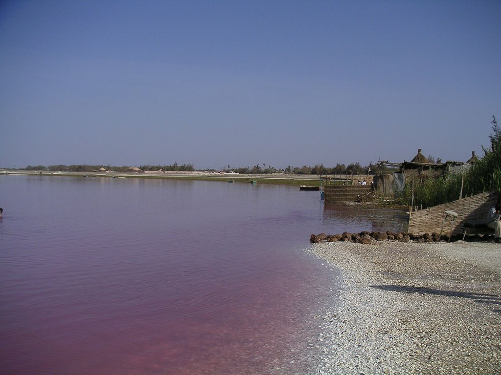
[[[462,222],[485,220],[487,210],[495,204],[498,196],[498,191],[487,191],[450,203],[413,211],[409,218],[409,232],[414,234],[440,232],[445,218],[445,210],[450,210],[457,213],[454,227],[452,228],[452,216],[449,215],[443,227],[443,233],[448,234],[451,229],[453,234],[461,233]]]

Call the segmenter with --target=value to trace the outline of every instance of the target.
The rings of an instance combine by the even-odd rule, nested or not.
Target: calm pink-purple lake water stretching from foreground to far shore
[[[0,175],[3,374],[313,373],[311,233],[399,229],[297,186]]]

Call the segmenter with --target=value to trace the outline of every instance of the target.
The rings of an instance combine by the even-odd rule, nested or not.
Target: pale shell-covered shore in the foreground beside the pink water
[[[319,374],[501,373],[501,245],[331,242],[338,306],[319,316]]]

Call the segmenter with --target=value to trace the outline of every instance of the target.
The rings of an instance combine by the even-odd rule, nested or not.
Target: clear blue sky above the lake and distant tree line
[[[0,166],[464,161],[501,1],[0,1]]]

